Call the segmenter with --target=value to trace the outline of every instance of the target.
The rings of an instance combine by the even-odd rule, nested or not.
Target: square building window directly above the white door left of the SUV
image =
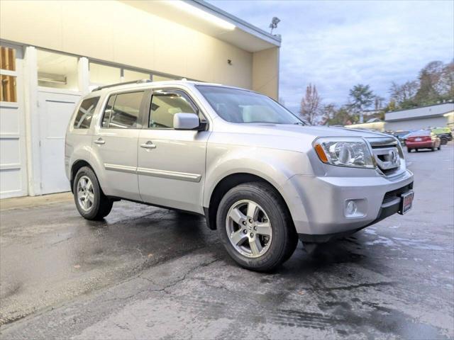
[[[36,55],[39,86],[79,91],[77,57],[43,50]]]

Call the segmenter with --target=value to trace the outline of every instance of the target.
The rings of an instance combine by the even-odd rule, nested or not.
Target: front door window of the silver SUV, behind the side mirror
[[[172,129],[175,113],[196,113],[196,109],[179,91],[154,91],[148,127]]]

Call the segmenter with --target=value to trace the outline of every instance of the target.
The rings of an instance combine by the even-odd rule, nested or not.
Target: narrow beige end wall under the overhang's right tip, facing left
[[[279,96],[279,47],[253,54],[253,90],[277,101]]]

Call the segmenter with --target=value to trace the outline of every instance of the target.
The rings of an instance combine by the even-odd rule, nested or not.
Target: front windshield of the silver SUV
[[[262,94],[221,86],[199,85],[197,89],[214,111],[230,123],[305,125],[293,113]]]

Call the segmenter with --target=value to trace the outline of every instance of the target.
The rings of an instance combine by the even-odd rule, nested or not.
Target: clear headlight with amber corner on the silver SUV
[[[375,168],[366,142],[355,137],[325,137],[314,141],[314,149],[321,162],[356,168]]]

